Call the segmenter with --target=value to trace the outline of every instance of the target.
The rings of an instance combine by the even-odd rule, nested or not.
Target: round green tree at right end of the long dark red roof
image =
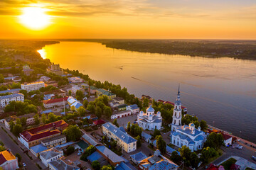
[[[63,134],[67,137],[68,141],[77,141],[82,136],[82,132],[77,125],[70,125],[63,130]]]

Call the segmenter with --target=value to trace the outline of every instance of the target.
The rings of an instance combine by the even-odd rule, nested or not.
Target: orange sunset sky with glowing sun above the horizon
[[[255,40],[256,1],[1,0],[0,26],[1,39]]]

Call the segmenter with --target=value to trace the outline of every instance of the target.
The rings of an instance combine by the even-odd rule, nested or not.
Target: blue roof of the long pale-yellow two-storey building
[[[112,132],[114,135],[116,135],[120,140],[124,141],[125,143],[129,144],[132,142],[136,142],[137,140],[135,140],[133,137],[131,137],[130,135],[128,135],[126,132],[122,132],[122,130],[119,130],[119,128],[117,128],[115,125],[113,125],[112,123],[105,123],[104,125],[105,128],[107,128],[107,130],[109,130],[110,132]]]

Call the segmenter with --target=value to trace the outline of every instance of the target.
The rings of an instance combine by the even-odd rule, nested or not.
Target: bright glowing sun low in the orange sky
[[[19,16],[21,23],[33,30],[46,28],[50,24],[50,16],[46,14],[46,8],[26,7],[23,14]]]

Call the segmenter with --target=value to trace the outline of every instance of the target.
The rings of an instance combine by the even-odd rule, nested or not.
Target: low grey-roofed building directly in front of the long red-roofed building
[[[67,142],[67,137],[65,137],[65,135],[58,135],[55,137],[50,137],[46,140],[42,140],[41,144],[44,147],[51,148],[51,147],[55,147],[57,145],[63,145],[66,142]]]

